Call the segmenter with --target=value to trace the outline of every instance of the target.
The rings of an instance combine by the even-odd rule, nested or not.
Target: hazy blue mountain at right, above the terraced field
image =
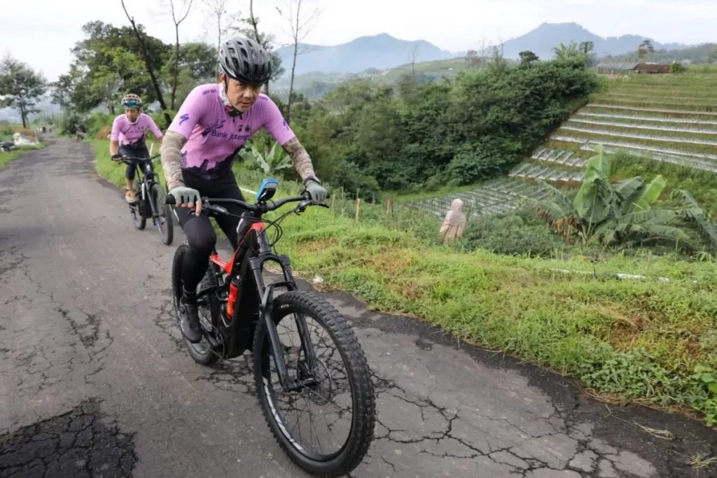
[[[530,50],[541,59],[551,59],[551,49],[564,43],[569,44],[571,40],[576,43],[593,42],[594,52],[598,57],[605,55],[619,55],[637,51],[642,40],[651,39],[640,35],[622,35],[621,37],[600,37],[576,23],[543,23],[540,27],[528,32],[521,37],[509,39],[503,44],[503,56],[506,58],[518,58],[518,53],[523,50]],[[688,45],[679,43],[662,44],[652,40],[655,50],[659,49],[682,49]]]

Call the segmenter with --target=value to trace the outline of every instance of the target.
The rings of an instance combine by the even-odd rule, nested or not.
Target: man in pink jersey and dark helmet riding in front
[[[189,93],[161,146],[168,193],[176,200],[176,215],[189,242],[182,264],[180,317],[182,333],[191,343],[201,340],[196,287],[217,243],[209,217],[201,214],[201,196],[244,200],[232,173],[232,161],[242,145],[265,128],[290,156],[311,198],[321,201],[328,195],[279,108],[260,93],[272,73],[265,49],[245,37],[229,39],[220,49],[219,65],[219,83],[199,85]],[[242,214],[239,206],[223,206]],[[221,216],[217,224],[236,248],[239,219]]]

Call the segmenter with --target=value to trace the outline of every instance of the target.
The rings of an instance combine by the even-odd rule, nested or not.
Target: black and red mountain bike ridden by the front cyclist
[[[289,257],[277,255],[273,249],[282,235],[280,223],[285,217],[301,214],[309,206],[328,206],[311,201],[308,193],[271,201],[277,183],[265,180],[254,204],[236,199],[202,198],[201,214],[206,211],[210,217],[236,216],[220,206],[221,203],[237,204],[244,212],[237,226],[239,246],[228,261],[221,259],[215,248],[197,287],[204,337],[199,343],[190,343],[186,338],[184,342],[191,357],[201,365],[235,358],[250,350],[260,408],[280,447],[298,467],[314,476],[341,477],[359,465],[373,440],[374,386],[364,351],[346,319],[319,295],[298,290]],[[167,196],[166,201],[175,204],[172,196]],[[265,214],[292,202],[298,205],[275,220],[265,219]],[[267,231],[272,226],[277,234],[270,242]],[[181,270],[188,250],[186,243],[179,246],[172,263],[172,292],[178,322]],[[262,272],[267,262],[278,264],[282,280],[265,282]],[[286,292],[275,295],[278,288],[285,288]],[[310,330],[309,320],[320,326],[320,334]],[[289,340],[289,329],[293,326],[298,336],[296,344]],[[315,338],[328,339],[336,348],[325,354],[327,344],[321,340],[315,344]],[[297,357],[285,357],[290,353],[296,353]],[[338,366],[330,360],[338,361],[343,370],[338,371]],[[346,386],[347,391],[340,391],[339,386]],[[280,394],[286,396],[280,398]],[[293,406],[302,399],[306,403],[297,406],[300,412],[296,418],[280,411],[282,406]],[[350,412],[343,411],[336,402],[348,406]],[[317,451],[312,446],[314,434],[318,438],[318,426],[310,428],[308,434],[295,433],[307,408],[308,417],[303,418],[313,419],[309,406],[318,408],[319,425],[326,424],[331,439],[342,433],[346,435],[346,439],[334,440],[336,450],[327,452],[319,444]],[[347,419],[348,423],[337,424],[341,419]],[[305,439],[310,444],[305,444]]]

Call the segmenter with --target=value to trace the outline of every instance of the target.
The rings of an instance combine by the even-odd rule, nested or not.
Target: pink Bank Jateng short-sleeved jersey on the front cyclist
[[[279,107],[261,93],[241,118],[230,116],[219,97],[219,85],[210,83],[191,90],[168,131],[187,138],[182,148],[181,168],[203,178],[222,174],[239,148],[260,128],[266,128],[280,145],[293,138],[294,132]]]

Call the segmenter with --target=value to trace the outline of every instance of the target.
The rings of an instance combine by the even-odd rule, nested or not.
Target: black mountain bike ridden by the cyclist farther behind
[[[158,182],[152,163],[159,156],[161,155],[156,154],[151,158],[122,156],[120,161],[125,164],[138,163],[135,177],[137,202],[130,204],[130,216],[135,227],[141,231],[145,228],[147,219],[152,219],[163,244],[170,245],[174,240],[172,210],[171,206],[165,204],[166,193]]]

